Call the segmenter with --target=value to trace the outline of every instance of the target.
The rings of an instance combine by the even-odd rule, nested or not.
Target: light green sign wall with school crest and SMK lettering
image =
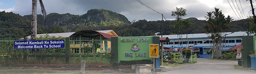
[[[125,41],[122,42],[121,39],[124,39]],[[134,39],[134,42],[127,41],[129,39]],[[149,42],[138,42],[138,39],[149,39]],[[111,42],[112,43],[112,42]],[[132,45],[134,43],[137,43],[139,47],[139,51],[132,51]],[[118,62],[120,60],[145,60],[150,59],[153,61],[151,57],[149,57],[149,44],[153,43],[153,37],[118,37]],[[112,52],[112,51],[111,51]],[[125,54],[131,54],[132,57],[125,57]],[[136,57],[138,54],[145,53],[145,57]]]

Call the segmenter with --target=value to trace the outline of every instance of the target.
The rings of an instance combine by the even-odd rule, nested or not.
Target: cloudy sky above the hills
[[[196,17],[199,20],[205,20],[207,12],[214,11],[214,8],[222,10],[225,16],[230,15],[234,20],[245,19],[252,16],[250,2],[246,0],[140,0],[152,9],[163,13],[166,20],[174,20],[171,16],[176,7],[187,10],[186,17]],[[232,8],[230,7],[230,2]],[[232,2],[233,1],[233,2]],[[240,1],[240,2],[239,2]],[[254,0],[255,1],[255,0]],[[107,9],[113,12],[123,14],[132,20],[146,19],[148,21],[162,20],[162,15],[148,9],[136,0],[43,0],[47,14],[76,14],[82,15],[90,9]],[[241,3],[241,5],[240,5]],[[256,2],[253,4],[256,5]],[[241,8],[242,7],[242,8]],[[244,11],[242,11],[242,9]],[[32,10],[32,0],[0,0],[0,11],[12,11],[16,14],[29,15]],[[237,11],[236,11],[237,10]],[[240,11],[239,11],[240,10]],[[41,8],[38,0],[38,14],[41,14]],[[243,13],[244,12],[244,13]],[[235,14],[236,13],[236,14]],[[237,15],[237,16],[236,16]],[[240,16],[239,16],[240,15]],[[245,16],[244,16],[245,15]]]

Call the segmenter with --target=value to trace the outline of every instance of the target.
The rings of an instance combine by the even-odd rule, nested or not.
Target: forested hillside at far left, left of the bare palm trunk
[[[0,11],[0,38],[20,38],[30,34],[31,21],[19,14]]]

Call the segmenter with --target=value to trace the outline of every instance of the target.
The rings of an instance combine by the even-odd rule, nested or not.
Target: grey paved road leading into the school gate
[[[195,64],[178,67],[160,66],[164,72],[153,74],[256,74],[256,71],[236,69],[234,65],[237,65],[237,61],[198,58],[198,63]]]

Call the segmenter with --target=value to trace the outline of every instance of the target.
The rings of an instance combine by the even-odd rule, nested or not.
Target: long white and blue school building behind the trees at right
[[[231,32],[226,32],[228,34],[223,37],[223,52],[234,51],[228,50],[234,46],[241,44],[241,39],[243,36],[247,36],[246,31],[237,31],[232,34]],[[253,36],[254,34],[249,34]],[[158,35],[161,37],[161,35]],[[188,39],[186,39],[186,34],[181,35],[181,39],[177,38],[177,34],[175,35],[163,35],[163,37],[168,37],[170,42],[163,42],[163,46],[170,48],[169,50],[164,50],[163,53],[169,53],[171,51],[177,51],[179,48],[186,48],[187,46],[192,46],[196,43],[201,43],[203,41],[209,40],[209,34],[200,33],[200,34],[187,34]],[[181,44],[181,45],[180,45]],[[204,43],[193,46],[192,51],[199,54],[198,57],[201,58],[211,58],[211,43],[210,41],[206,41]]]

